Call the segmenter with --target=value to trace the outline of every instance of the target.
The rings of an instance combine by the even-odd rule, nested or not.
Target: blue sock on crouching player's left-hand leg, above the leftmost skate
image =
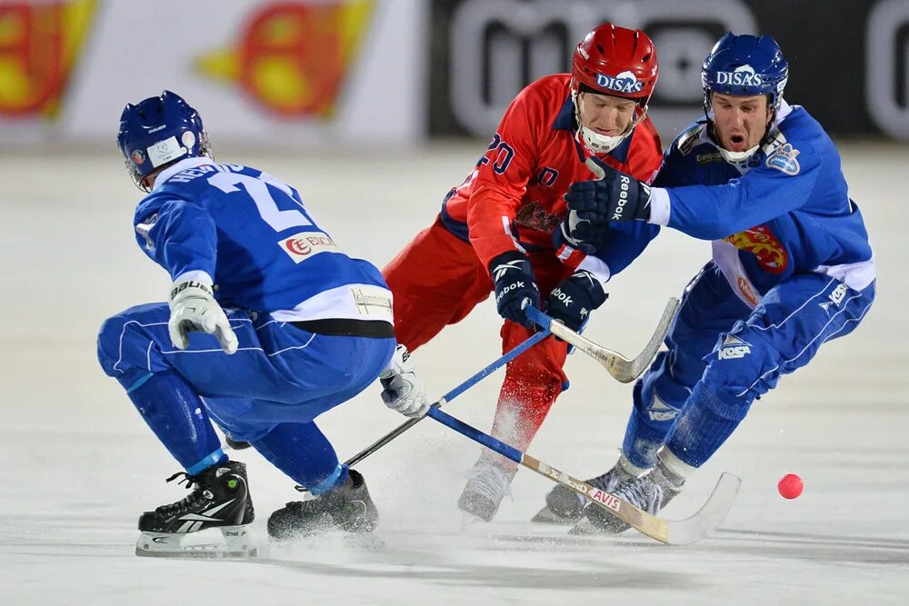
[[[123,384],[136,410],[167,450],[195,475],[227,461],[205,405],[185,379],[175,372],[148,373]]]

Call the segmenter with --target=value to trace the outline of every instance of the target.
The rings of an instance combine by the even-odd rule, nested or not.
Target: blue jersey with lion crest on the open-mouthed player
[[[766,143],[739,164],[724,159],[703,121],[685,129],[664,154],[651,220],[714,241],[714,261],[753,308],[797,273],[825,273],[857,291],[874,281],[839,154],[798,105],[783,102]]]

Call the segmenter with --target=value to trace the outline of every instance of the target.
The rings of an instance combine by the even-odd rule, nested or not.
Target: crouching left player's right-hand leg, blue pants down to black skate
[[[312,358],[289,370],[300,388],[301,402],[207,399],[218,422],[316,498],[288,502],[268,519],[268,532],[278,539],[325,530],[372,531],[378,512],[364,477],[338,462],[332,443],[313,418],[347,402],[375,382],[395,349],[391,338],[314,335],[305,348]],[[297,354],[295,354],[297,357]]]

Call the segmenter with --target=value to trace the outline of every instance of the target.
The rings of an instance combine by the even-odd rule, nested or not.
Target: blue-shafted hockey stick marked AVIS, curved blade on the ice
[[[719,526],[726,517],[726,513],[732,507],[735,495],[738,494],[739,486],[742,484],[742,481],[732,473],[724,472],[720,476],[719,482],[716,482],[714,492],[701,507],[700,511],[685,520],[666,520],[644,512],[644,510],[634,507],[630,502],[623,501],[609,492],[601,491],[587,482],[554,469],[546,463],[517,450],[514,446],[500,442],[493,436],[455,419],[438,408],[429,409],[426,416],[432,417],[474,442],[483,444],[486,448],[498,452],[505,458],[511,459],[527,469],[566,486],[569,490],[596,503],[616,518],[631,524],[631,526],[648,537],[669,545],[691,545],[703,539],[707,533]]]

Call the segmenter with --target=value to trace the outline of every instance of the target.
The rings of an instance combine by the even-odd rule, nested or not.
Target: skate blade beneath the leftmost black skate
[[[135,541],[135,554],[144,558],[243,559],[255,558],[257,552],[245,526],[221,526],[179,534],[143,532]]]

